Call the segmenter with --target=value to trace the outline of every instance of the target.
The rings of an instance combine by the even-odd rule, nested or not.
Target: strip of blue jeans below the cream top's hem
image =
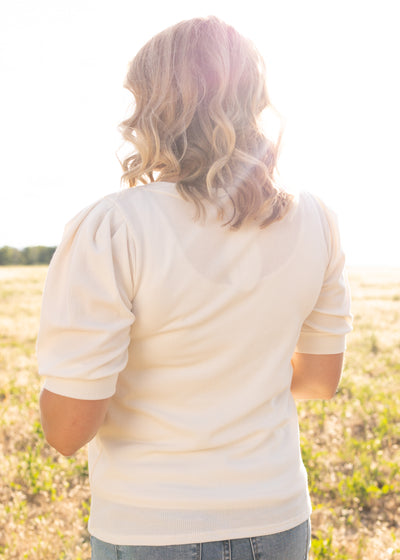
[[[263,537],[168,546],[119,546],[91,537],[92,560],[307,560],[310,522]]]

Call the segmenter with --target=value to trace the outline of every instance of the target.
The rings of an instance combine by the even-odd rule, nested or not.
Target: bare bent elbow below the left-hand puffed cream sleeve
[[[47,442],[62,455],[73,455],[97,433],[110,399],[81,400],[43,389],[40,415]]]

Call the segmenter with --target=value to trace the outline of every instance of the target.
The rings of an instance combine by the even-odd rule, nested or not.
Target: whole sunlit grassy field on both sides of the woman
[[[0,267],[0,559],[87,560],[85,450],[57,455],[38,415],[46,267]],[[350,269],[354,332],[328,402],[299,404],[313,560],[400,559],[400,269]]]

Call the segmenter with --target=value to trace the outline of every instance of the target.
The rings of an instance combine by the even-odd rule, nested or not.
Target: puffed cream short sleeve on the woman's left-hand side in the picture
[[[67,397],[112,396],[128,360],[134,242],[111,198],[65,228],[50,263],[37,339],[44,387]]]

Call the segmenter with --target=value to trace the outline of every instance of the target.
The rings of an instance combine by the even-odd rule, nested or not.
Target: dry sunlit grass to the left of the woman
[[[58,456],[38,416],[35,341],[46,267],[0,267],[0,558],[90,558],[86,454]]]

